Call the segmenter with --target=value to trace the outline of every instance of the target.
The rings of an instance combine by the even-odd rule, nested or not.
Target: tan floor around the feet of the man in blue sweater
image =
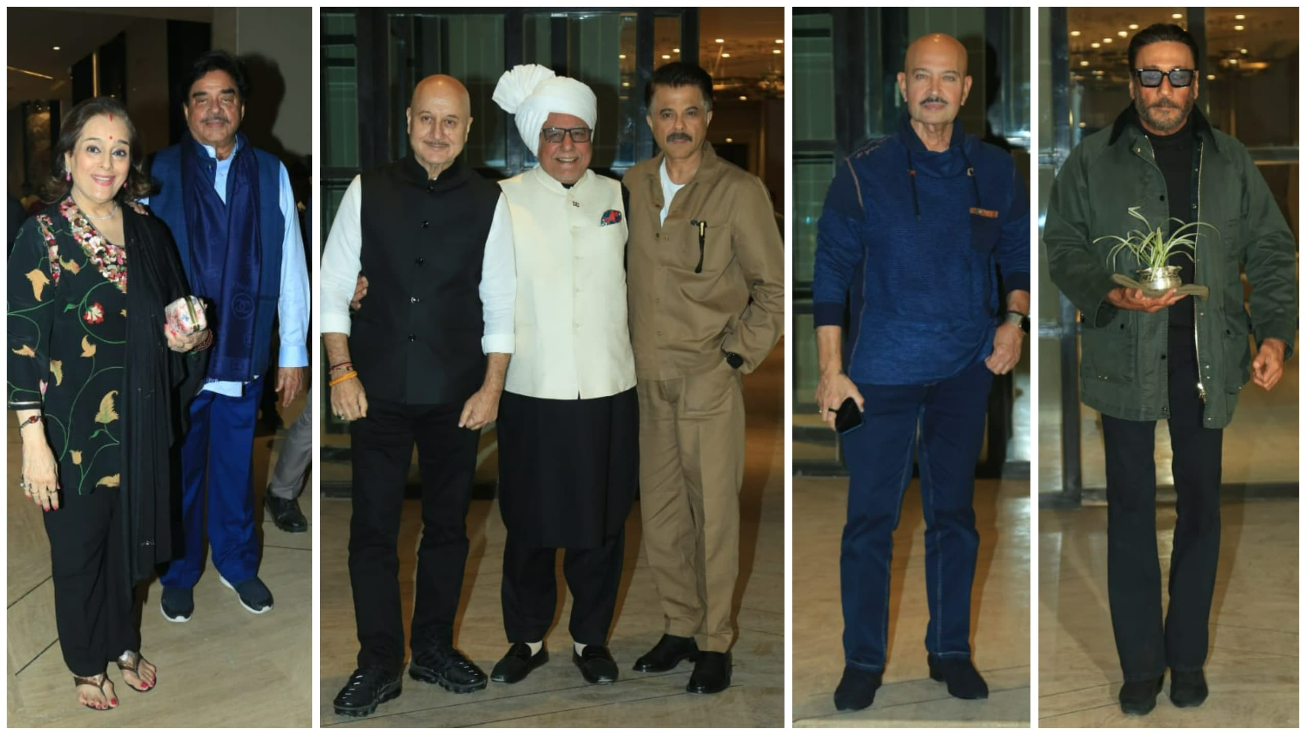
[[[872,707],[838,712],[844,669],[839,543],[847,478],[795,478],[793,724],[796,727],[1027,727],[1030,724],[1030,482],[976,482],[980,553],[971,618],[974,661],[985,701],[961,701],[928,677],[925,544],[914,480],[894,532],[890,651]]]

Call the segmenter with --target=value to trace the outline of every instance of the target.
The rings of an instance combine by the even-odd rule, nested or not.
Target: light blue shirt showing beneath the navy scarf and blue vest
[[[201,144],[203,145],[203,144]],[[213,188],[218,192],[222,204],[227,203],[227,171],[231,170],[231,161],[240,146],[231,149],[231,156],[218,161],[217,171],[213,175]],[[205,145],[204,150],[217,158],[213,146]],[[308,365],[308,268],[305,265],[305,242],[299,237],[299,216],[295,209],[295,193],[290,188],[290,174],[286,166],[278,163],[277,203],[281,207],[281,218],[285,222],[285,234],[281,239],[281,293],[277,297],[277,324],[281,337],[281,349],[277,354],[278,367],[303,367]],[[141,200],[149,204],[149,197]],[[250,383],[256,383],[255,376]],[[239,380],[208,380],[201,391],[212,391],[223,396],[240,396],[248,383]]]

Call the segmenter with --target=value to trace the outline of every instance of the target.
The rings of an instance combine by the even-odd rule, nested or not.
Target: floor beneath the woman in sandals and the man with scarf
[[[305,401],[284,413],[289,425]],[[17,426],[9,412],[9,426]],[[212,563],[195,588],[195,614],[171,624],[158,611],[161,586],[149,586],[141,614],[141,651],[158,667],[158,689],[136,693],[110,665],[119,706],[78,705],[55,630],[50,541],[43,511],[18,490],[21,439],[9,431],[8,726],[112,727],[310,727],[312,726],[312,529],[288,535],[264,518],[263,492],[280,434],[255,438],[255,520],[263,543],[259,577],[274,607],[254,616],[222,587]],[[312,493],[301,497],[312,518]],[[58,514],[58,511],[51,511]]]

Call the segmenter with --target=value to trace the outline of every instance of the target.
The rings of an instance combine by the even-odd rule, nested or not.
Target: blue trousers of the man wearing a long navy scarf
[[[254,382],[244,396],[201,391],[191,401],[191,429],[182,444],[183,544],[174,545],[184,549],[184,556],[174,558],[159,575],[163,587],[190,588],[200,580],[205,516],[218,574],[235,584],[259,573],[254,430],[261,392],[261,383]]]

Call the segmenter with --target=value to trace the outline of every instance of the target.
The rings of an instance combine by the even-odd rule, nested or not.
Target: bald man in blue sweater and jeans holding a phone
[[[955,122],[971,90],[966,48],[944,34],[916,39],[898,85],[898,131],[850,156],[831,182],[813,271],[817,407],[831,429],[846,399],[863,412],[844,434],[839,710],[872,705],[885,671],[893,532],[914,448],[931,677],[954,697],[988,697],[971,663],[971,497],[991,380],[1017,365],[1029,329],[1030,201],[1012,157]]]

